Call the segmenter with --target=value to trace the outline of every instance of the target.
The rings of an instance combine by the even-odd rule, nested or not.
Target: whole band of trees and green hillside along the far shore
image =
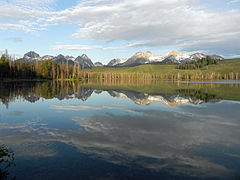
[[[52,60],[13,61],[2,55],[0,58],[0,79],[14,80],[240,80],[240,59],[216,61],[201,59],[186,64],[144,64],[132,67],[94,67],[84,68],[56,63]]]

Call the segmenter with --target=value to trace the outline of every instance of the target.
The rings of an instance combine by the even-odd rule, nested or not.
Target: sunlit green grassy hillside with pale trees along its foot
[[[176,64],[146,64],[96,67],[85,69],[85,74],[89,79],[239,80],[240,59],[224,60],[195,70],[177,69]]]

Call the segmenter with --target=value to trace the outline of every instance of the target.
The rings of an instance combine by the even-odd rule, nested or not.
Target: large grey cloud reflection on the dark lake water
[[[226,107],[226,103],[220,103],[169,112],[146,109],[136,116],[98,113],[83,117],[80,113],[76,117],[74,113],[69,118],[76,129],[54,127],[40,118],[15,124],[6,121],[0,124],[0,140],[10,147],[15,146],[15,150],[26,152],[27,149],[25,155],[28,156],[54,156],[56,150],[47,144],[62,142],[124,166],[132,167],[136,163],[155,170],[165,167],[176,174],[184,172],[204,179],[225,177],[233,174],[233,169],[225,166],[227,161],[218,162],[228,156],[239,157],[239,153],[232,153],[232,150],[239,147],[240,137],[239,120],[236,119],[239,107],[231,106],[225,111]],[[26,147],[29,144],[32,146]],[[212,148],[220,150],[216,152],[221,157],[218,162],[202,156],[202,152],[211,153]],[[144,158],[139,161],[139,157]]]

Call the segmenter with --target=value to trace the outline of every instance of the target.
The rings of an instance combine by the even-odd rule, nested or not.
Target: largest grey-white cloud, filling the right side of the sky
[[[147,47],[177,46],[222,54],[239,51],[235,46],[240,32],[236,29],[238,10],[211,12],[190,0],[90,2],[80,2],[52,16],[49,22],[79,24],[75,38],[136,41]]]

